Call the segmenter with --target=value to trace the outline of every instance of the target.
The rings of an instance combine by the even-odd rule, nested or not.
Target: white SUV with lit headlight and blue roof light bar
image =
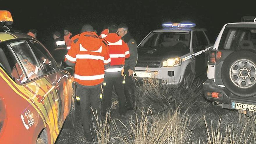
[[[206,29],[194,28],[194,23],[166,22],[162,26],[138,45],[134,77],[178,84],[184,75],[206,72],[211,48]]]

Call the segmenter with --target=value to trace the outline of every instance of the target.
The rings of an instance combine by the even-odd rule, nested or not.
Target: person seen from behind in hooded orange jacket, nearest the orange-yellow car
[[[94,138],[93,127],[90,127],[90,114],[93,110],[93,123],[100,122],[100,104],[104,70],[110,65],[108,47],[86,24],[81,33],[72,39],[71,49],[65,56],[67,65],[75,67],[74,79],[77,95],[80,97],[81,121],[87,141]]]

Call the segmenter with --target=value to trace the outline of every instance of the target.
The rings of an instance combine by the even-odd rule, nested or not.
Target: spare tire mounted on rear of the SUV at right
[[[231,53],[223,62],[221,78],[225,87],[239,97],[256,95],[256,54],[250,51]]]

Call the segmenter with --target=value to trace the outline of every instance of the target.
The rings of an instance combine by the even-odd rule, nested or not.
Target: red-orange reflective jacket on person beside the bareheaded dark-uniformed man
[[[116,33],[110,33],[104,38],[108,42],[109,56],[111,58],[110,66],[105,72],[122,71],[125,65],[125,58],[130,57],[128,45]],[[116,67],[116,66],[119,67]]]

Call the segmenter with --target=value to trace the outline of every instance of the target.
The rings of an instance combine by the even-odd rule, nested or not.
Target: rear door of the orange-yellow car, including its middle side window
[[[58,95],[54,86],[45,76],[42,66],[27,41],[10,42],[9,45],[15,52],[25,72],[21,83],[35,105],[42,111],[49,126],[50,134],[56,139],[60,129],[58,128],[56,107],[54,105]]]

